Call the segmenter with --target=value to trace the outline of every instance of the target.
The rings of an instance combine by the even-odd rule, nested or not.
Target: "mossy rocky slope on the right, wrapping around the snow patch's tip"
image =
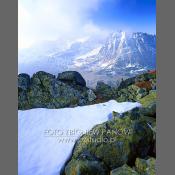
[[[117,100],[139,101],[142,107],[123,114],[113,111],[110,121],[84,134],[62,174],[155,175],[156,72],[122,81],[116,91],[102,83],[97,89],[98,98],[111,98],[117,93]]]

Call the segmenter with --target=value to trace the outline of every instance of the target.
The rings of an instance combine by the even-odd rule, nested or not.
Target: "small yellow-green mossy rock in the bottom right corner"
[[[137,158],[135,162],[136,170],[141,175],[155,175],[155,158],[149,158],[147,160]]]

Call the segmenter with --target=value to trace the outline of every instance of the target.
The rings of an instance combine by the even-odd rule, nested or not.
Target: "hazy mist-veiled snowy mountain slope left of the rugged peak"
[[[93,52],[104,43],[104,38],[84,37],[73,41],[49,41],[32,48],[19,50],[18,73],[32,75],[37,71],[52,74],[72,69],[75,58]],[[62,46],[63,45],[63,46]]]

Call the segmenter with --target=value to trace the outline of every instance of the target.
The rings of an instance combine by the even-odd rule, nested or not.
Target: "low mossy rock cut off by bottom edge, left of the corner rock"
[[[139,173],[125,164],[122,167],[112,170],[110,175],[139,175]]]

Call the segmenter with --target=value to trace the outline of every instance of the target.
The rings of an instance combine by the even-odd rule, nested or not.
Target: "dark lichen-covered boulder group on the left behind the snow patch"
[[[70,72],[63,75],[64,81],[43,71],[35,73],[31,78],[27,74],[19,74],[18,108],[64,108],[87,104],[88,89],[82,76]],[[69,81],[65,81],[66,75]]]

